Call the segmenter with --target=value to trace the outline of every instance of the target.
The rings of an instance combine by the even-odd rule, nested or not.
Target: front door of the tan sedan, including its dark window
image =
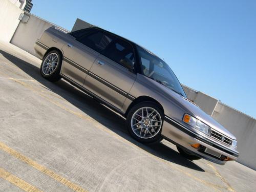
[[[119,110],[136,80],[136,74],[122,65],[123,58],[134,63],[134,49],[130,42],[117,37],[94,61],[83,84]]]

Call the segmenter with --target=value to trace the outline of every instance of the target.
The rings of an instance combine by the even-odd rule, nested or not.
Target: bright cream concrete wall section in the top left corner
[[[0,40],[9,42],[19,24],[19,15],[24,11],[9,0],[1,0],[0,4]]]

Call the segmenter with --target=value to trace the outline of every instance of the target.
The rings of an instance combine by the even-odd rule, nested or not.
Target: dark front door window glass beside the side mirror
[[[120,65],[122,65],[120,61],[123,58],[130,59],[134,62],[132,45],[121,39],[117,39],[103,54]]]

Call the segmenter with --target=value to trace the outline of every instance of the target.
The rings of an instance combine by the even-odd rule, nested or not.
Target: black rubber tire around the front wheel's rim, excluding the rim
[[[161,128],[160,128],[160,131],[157,133],[157,135],[155,135],[153,138],[149,138],[149,139],[143,139],[143,138],[140,138],[138,137],[132,130],[132,126],[131,126],[131,119],[132,119],[132,116],[133,114],[140,108],[142,107],[145,107],[145,106],[148,106],[148,107],[151,107],[151,108],[154,108],[161,116],[161,119],[162,119],[162,125],[161,125]],[[154,102],[141,102],[141,103],[138,103],[136,105],[133,106],[133,108],[129,111],[129,113],[127,114],[127,117],[126,117],[126,129],[129,131],[129,133],[131,134],[131,136],[136,139],[137,141],[139,142],[142,142],[142,143],[154,143],[154,142],[159,142],[162,140],[162,136],[161,136],[161,132],[162,132],[162,126],[163,126],[163,117],[164,117],[164,114],[160,108],[160,106]]]

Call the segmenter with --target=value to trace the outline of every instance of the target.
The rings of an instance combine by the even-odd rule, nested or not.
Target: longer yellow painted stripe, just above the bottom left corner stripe
[[[62,183],[63,185],[66,185],[67,187],[73,189],[74,191],[77,192],[85,192],[87,190],[83,189],[82,187],[78,186],[77,184],[67,180],[66,178],[63,178],[62,176],[54,173],[52,170],[38,164],[37,162],[33,161],[32,159],[18,153],[17,151],[13,150],[6,144],[0,142],[0,149],[5,151],[6,153],[14,156],[15,158],[29,164],[30,166],[34,167],[35,169],[39,170],[40,172],[48,175],[49,177],[55,179],[56,181]]]

